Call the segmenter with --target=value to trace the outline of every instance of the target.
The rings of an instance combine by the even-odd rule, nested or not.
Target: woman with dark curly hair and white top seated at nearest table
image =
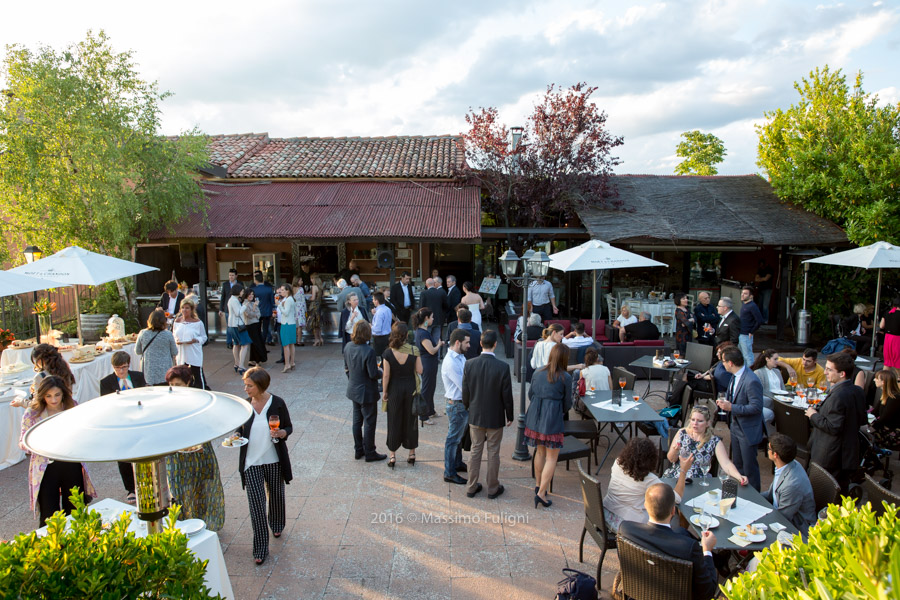
[[[660,478],[653,471],[659,461],[656,444],[645,437],[633,437],[625,444],[622,454],[613,463],[609,487],[603,498],[603,516],[613,531],[619,530],[622,521],[646,523],[649,519],[644,508],[644,493]],[[693,455],[681,458],[678,483],[675,484],[675,501],[681,502],[684,482],[694,462]]]

